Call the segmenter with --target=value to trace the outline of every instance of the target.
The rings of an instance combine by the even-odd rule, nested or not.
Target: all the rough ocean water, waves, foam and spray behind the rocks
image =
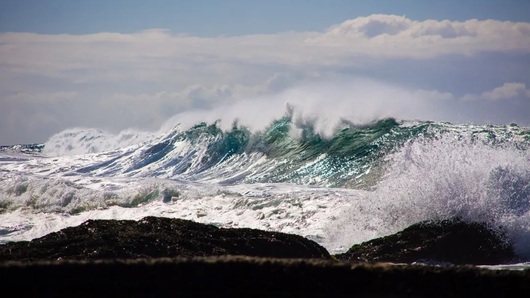
[[[530,261],[529,147],[516,124],[387,118],[323,134],[292,114],[260,130],[69,129],[1,147],[0,243],[154,215],[294,233],[339,253],[459,216],[501,227]]]

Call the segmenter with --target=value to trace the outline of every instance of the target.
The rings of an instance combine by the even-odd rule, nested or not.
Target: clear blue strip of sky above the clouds
[[[530,21],[526,0],[2,0],[2,32],[132,33],[164,28],[199,36],[322,30],[357,16]]]

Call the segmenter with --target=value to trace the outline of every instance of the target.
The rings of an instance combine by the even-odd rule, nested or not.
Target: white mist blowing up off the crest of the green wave
[[[217,106],[208,110],[179,113],[161,128],[175,125],[188,129],[199,122],[219,121],[229,130],[233,123],[261,131],[271,121],[292,113],[298,126],[312,125],[315,132],[331,137],[344,122],[367,125],[374,121],[395,118],[402,120],[454,121],[447,112],[450,100],[440,96],[407,90],[389,83],[366,78],[341,79],[334,82],[312,82],[276,94],[263,95]]]

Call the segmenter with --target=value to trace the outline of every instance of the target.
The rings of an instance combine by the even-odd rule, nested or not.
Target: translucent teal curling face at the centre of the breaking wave
[[[373,177],[377,176],[374,169],[386,153],[425,133],[428,127],[429,124],[421,124],[405,128],[394,119],[364,127],[344,123],[335,135],[324,138],[311,124],[296,125],[290,117],[285,117],[258,133],[237,125],[225,132],[216,124],[202,123],[173,136],[173,141],[186,139],[196,148],[207,146],[200,156],[200,166],[191,171],[197,175],[206,171],[215,175],[214,167],[230,168],[234,167],[231,163],[235,159],[262,155],[267,162],[258,166],[260,170],[242,175],[238,182],[361,187],[374,183]],[[245,167],[251,166],[256,165],[239,167],[245,171]],[[372,177],[372,181],[367,177]]]

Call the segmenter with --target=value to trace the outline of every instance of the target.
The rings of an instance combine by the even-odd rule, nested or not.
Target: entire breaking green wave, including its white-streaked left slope
[[[441,139],[443,142],[437,143]],[[230,130],[221,129],[218,123],[199,123],[188,130],[171,130],[132,151],[110,154],[107,160],[76,172],[221,184],[293,183],[372,189],[392,164],[400,162],[395,160],[400,156],[396,153],[410,150],[411,144],[424,144],[423,155],[439,152],[441,156],[453,152],[455,146],[459,148],[455,152],[469,154],[475,154],[479,145],[499,152],[507,147],[527,150],[530,132],[515,125],[399,122],[392,118],[364,126],[344,121],[331,136],[322,135],[314,123],[291,116],[257,132],[237,123]],[[436,146],[446,146],[447,150]],[[437,158],[429,156],[428,160]],[[400,159],[414,163],[407,161],[406,154]]]

